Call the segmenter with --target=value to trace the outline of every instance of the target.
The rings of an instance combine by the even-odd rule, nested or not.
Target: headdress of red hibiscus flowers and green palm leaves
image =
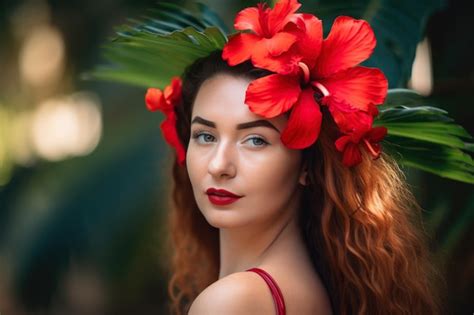
[[[403,154],[396,159],[443,177],[474,182],[472,167],[465,168],[473,165],[471,156],[466,154],[471,137],[447,112],[431,106],[403,105],[405,100],[419,101],[416,93],[404,90],[392,91],[391,106],[378,106],[386,97],[387,80],[377,69],[360,67],[376,44],[367,22],[338,17],[331,32],[324,32],[329,33],[324,39],[321,20],[298,12],[298,0],[271,2],[276,4],[260,4],[238,13],[234,24],[238,32],[232,35],[205,5],[190,11],[179,4],[158,4],[154,17],[120,28],[103,47],[111,64],[95,67],[90,74],[96,79],[150,87],[153,82],[169,80],[169,73],[183,73],[200,58],[223,49],[222,59],[230,66],[248,60],[257,69],[270,71],[270,76],[249,85],[245,103],[265,118],[283,113],[289,117],[281,136],[287,147],[306,148],[315,143],[321,126],[326,126],[322,120],[329,119],[327,122],[338,133],[334,135],[334,150],[340,151],[341,163],[352,166],[363,158],[363,153],[373,158],[380,156],[379,143],[387,130],[376,126],[386,126],[394,135],[390,147],[395,151],[389,153],[403,148]],[[423,24],[418,22],[419,26]],[[407,43],[407,49],[415,44]],[[377,56],[381,60],[382,50]],[[152,52],[154,58],[144,58],[144,51]],[[183,149],[178,141],[175,123],[179,111],[174,108],[172,97],[180,93],[172,86],[150,89],[146,101],[150,110],[160,109],[166,114],[162,124],[166,141],[176,149],[178,160],[184,161],[186,146]],[[376,117],[379,109],[382,115]],[[425,127],[432,122],[436,122],[433,128]],[[410,146],[406,146],[407,142]],[[452,154],[440,156],[440,150]],[[436,161],[433,154],[438,154]],[[426,159],[431,167],[420,164],[420,159]]]

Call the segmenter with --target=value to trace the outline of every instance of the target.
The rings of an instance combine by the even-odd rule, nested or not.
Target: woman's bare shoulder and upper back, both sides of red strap
[[[276,268],[265,268],[278,283],[287,315],[332,314],[327,292],[319,279],[300,272],[288,275]],[[317,277],[316,277],[317,278]],[[270,289],[260,275],[237,272],[208,286],[193,301],[189,315],[276,314]]]

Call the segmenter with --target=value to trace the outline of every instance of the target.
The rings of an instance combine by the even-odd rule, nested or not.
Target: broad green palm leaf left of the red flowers
[[[188,65],[227,42],[224,23],[202,4],[193,12],[161,3],[150,12],[153,17],[130,20],[131,25],[117,29],[117,37],[102,49],[111,64],[97,67],[86,78],[164,88]]]

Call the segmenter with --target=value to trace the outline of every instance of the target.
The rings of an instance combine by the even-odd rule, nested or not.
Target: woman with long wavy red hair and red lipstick
[[[288,148],[288,114],[266,119],[245,104],[249,83],[269,72],[221,54],[189,67],[182,93],[176,82],[165,90],[182,94],[166,121],[178,138],[173,311],[437,313],[420,209],[396,163],[362,151],[357,167],[344,165],[327,107],[318,140]]]

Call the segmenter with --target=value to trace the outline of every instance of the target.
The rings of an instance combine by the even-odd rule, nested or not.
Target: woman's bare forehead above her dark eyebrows
[[[245,91],[250,82],[250,79],[224,73],[207,79],[196,95],[192,118],[200,116],[215,122],[217,126],[265,119],[252,113],[245,104]],[[287,119],[282,115],[265,120],[282,130]]]

